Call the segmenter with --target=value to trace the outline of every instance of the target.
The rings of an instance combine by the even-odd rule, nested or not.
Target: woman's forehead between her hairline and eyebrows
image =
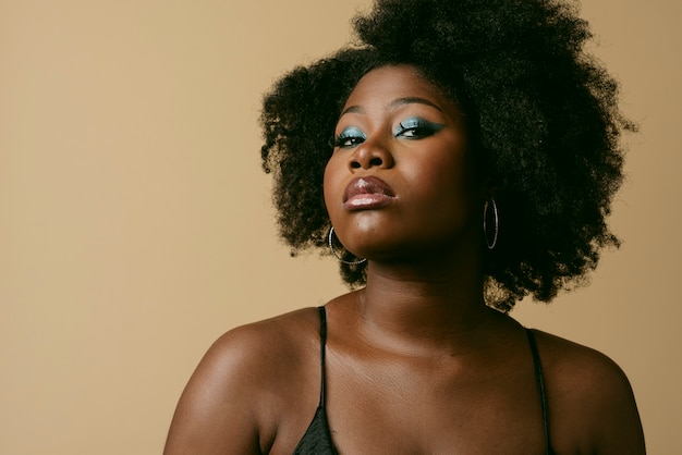
[[[440,89],[409,65],[380,66],[365,74],[357,83],[344,109],[352,106],[389,106],[399,98],[423,98],[442,110],[454,109]]]

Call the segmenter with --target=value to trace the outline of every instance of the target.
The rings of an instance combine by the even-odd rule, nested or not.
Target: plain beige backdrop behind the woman
[[[0,0],[0,454],[160,453],[223,331],[343,291],[278,243],[258,162],[275,77],[367,0]],[[649,453],[682,429],[679,0],[584,0],[623,84],[625,239],[521,321],[629,373]]]

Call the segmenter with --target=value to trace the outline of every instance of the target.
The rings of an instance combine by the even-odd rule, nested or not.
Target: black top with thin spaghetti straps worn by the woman
[[[320,318],[320,365],[321,365],[321,383],[319,393],[319,405],[313,417],[310,426],[305,431],[305,434],[299,442],[294,455],[337,455],[337,450],[331,441],[331,432],[329,430],[329,423],[327,422],[327,413],[325,410],[325,346],[327,344],[327,315],[325,307],[319,307]],[[531,346],[531,353],[533,355],[533,365],[535,367],[535,382],[537,383],[537,390],[540,395],[540,405],[543,407],[543,422],[545,426],[545,454],[555,455],[555,451],[551,448],[549,442],[549,421],[547,416],[547,396],[545,394],[545,379],[543,378],[543,366],[540,364],[540,356],[537,351],[537,344],[535,343],[535,335],[529,329],[525,329],[526,336],[528,339],[528,345]]]

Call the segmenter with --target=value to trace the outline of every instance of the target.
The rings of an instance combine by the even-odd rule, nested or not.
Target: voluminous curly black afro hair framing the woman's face
[[[622,181],[621,134],[635,126],[585,51],[592,34],[576,10],[568,0],[378,0],[355,17],[353,46],[283,76],[264,99],[261,158],[292,255],[328,250],[322,174],[351,90],[375,67],[407,64],[463,110],[478,168],[499,183],[498,243],[482,244],[489,304],[549,302],[582,283],[600,250],[619,245],[606,217]],[[365,265],[341,273],[363,284]]]

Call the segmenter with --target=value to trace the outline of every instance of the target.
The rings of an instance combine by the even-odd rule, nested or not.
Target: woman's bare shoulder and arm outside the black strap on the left
[[[288,399],[309,386],[318,340],[315,308],[220,336],[180,398],[165,453],[257,454],[269,447]]]

